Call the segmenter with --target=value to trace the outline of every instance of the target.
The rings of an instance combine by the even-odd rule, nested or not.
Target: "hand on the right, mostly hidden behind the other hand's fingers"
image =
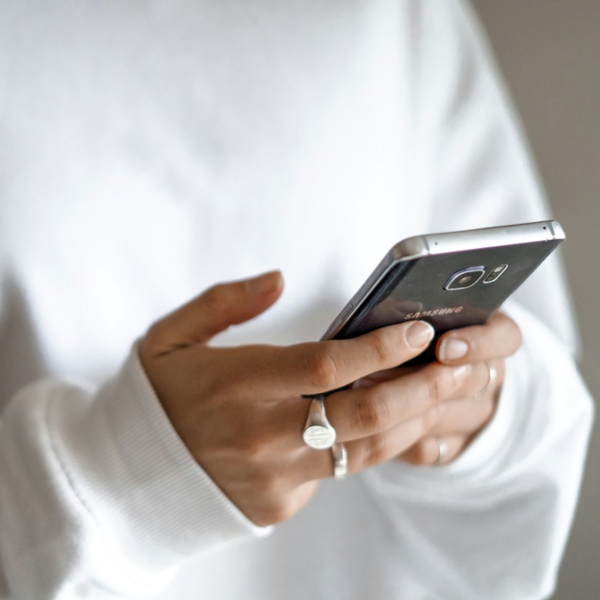
[[[520,345],[521,332],[517,324],[499,311],[492,314],[485,325],[454,329],[442,335],[436,346],[439,362],[446,365],[484,363],[490,372],[488,383],[471,397],[439,404],[434,424],[398,458],[416,465],[439,465],[460,456],[493,417],[504,380],[504,359]],[[415,367],[374,373],[355,385],[395,379],[409,369],[412,371]]]

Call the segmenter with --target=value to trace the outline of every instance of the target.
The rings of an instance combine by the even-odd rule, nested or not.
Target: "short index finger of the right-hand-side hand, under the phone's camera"
[[[506,358],[521,346],[521,330],[505,313],[496,311],[485,325],[446,332],[437,342],[440,362],[451,365]]]

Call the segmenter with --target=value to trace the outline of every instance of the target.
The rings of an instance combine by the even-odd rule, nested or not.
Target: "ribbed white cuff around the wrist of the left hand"
[[[140,563],[178,563],[271,530],[251,523],[194,461],[135,347],[88,406],[77,414],[51,407],[49,419],[53,445],[80,501]]]

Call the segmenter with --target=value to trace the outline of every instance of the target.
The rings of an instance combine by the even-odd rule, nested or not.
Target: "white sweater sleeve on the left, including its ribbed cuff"
[[[43,380],[0,429],[2,598],[154,595],[177,566],[254,526],[196,464],[136,350],[95,394]]]

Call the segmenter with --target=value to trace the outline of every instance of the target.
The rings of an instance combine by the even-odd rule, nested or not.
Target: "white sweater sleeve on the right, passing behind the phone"
[[[431,230],[550,218],[469,7],[414,5],[416,188],[432,207]],[[504,309],[524,342],[506,361],[487,428],[449,466],[391,461],[364,473],[392,535],[415,544],[413,567],[436,598],[547,597],[574,514],[593,409],[559,257]]]

